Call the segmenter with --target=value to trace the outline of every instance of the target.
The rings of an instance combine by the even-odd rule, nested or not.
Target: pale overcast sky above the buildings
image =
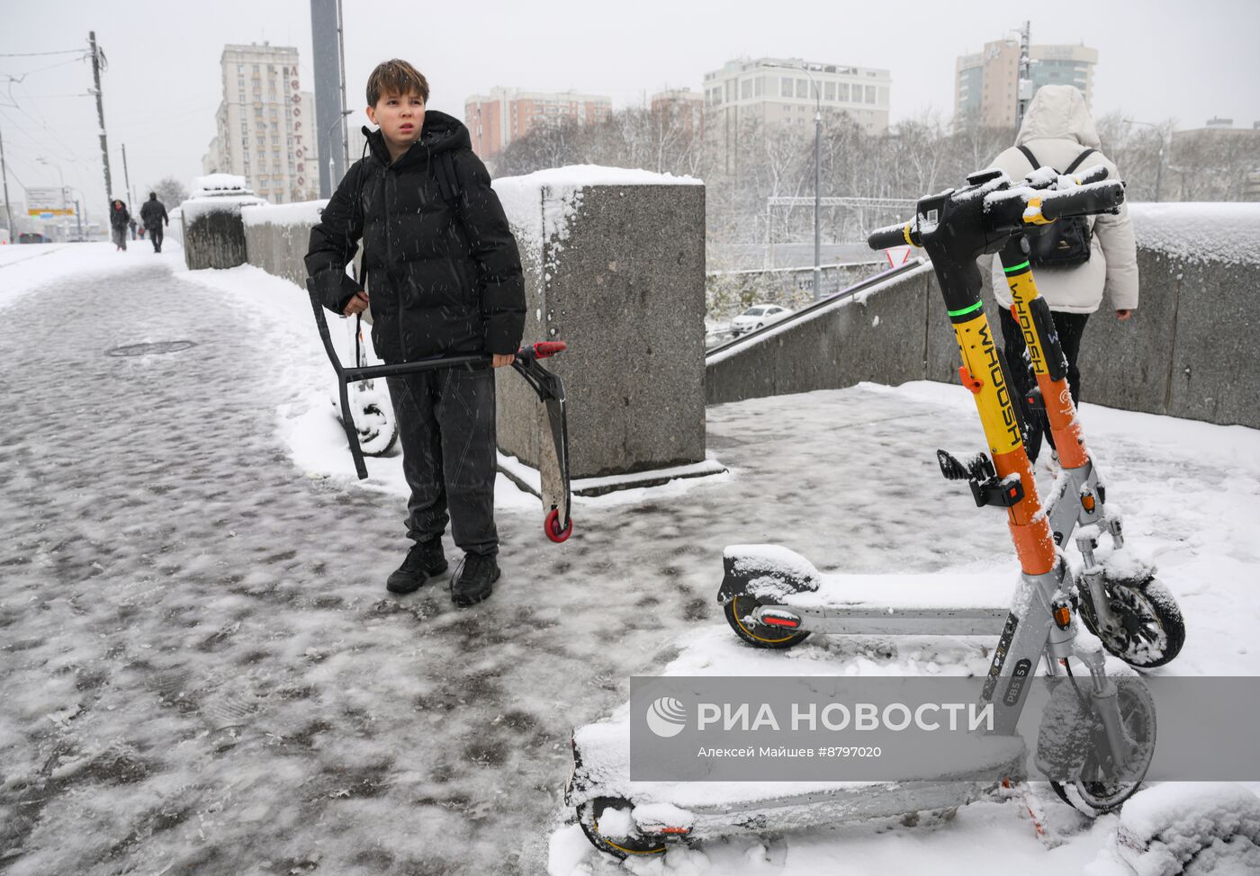
[[[0,55],[86,47],[94,29],[103,77],[111,166],[121,191],[120,147],[132,188],[166,175],[190,180],[214,135],[226,43],[296,45],[311,88],[307,0],[4,0]],[[352,104],[384,58],[415,63],[432,86],[430,106],[462,118],[464,98],[495,84],[610,94],[625,106],[663,87],[699,89],[726,60],[798,57],[881,67],[892,73],[892,121],[953,112],[954,60],[1027,18],[1034,43],[1099,50],[1095,113],[1260,121],[1260,0],[1005,0],[772,4],[638,0],[344,0]],[[20,79],[14,82],[13,78]],[[83,97],[91,67],[73,55],[0,57],[0,133],[20,186],[66,184],[103,201],[96,104]],[[16,104],[16,106],[13,106]]]

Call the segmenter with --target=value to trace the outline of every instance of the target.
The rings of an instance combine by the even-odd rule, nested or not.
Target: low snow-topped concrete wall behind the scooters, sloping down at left
[[[1106,300],[1090,317],[1082,399],[1260,428],[1260,205],[1135,204],[1130,213],[1140,303],[1126,322]],[[854,305],[838,305],[711,357],[709,404],[862,380],[958,381],[958,347],[930,268],[862,295],[856,311],[843,313]],[[997,328],[988,276],[984,300]]]

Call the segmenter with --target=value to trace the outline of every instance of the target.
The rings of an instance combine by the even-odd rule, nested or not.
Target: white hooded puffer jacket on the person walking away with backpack
[[[1016,146],[1027,146],[1043,167],[1062,171],[1086,147],[1099,149],[1099,135],[1085,107],[1085,98],[1071,86],[1042,86],[1028,104]],[[1108,179],[1123,179],[1101,152],[1091,152],[1074,172],[1106,165]],[[1013,182],[1032,172],[1024,154],[1012,147],[993,160],[993,167],[1005,171]],[[1119,214],[1091,218],[1094,242],[1090,261],[1068,268],[1034,268],[1037,289],[1051,310],[1092,313],[1102,302],[1104,289],[1113,310],[1138,306],[1138,249],[1133,239],[1129,208]],[[993,295],[1011,306],[1011,289],[1002,273],[1000,259],[993,259]]]

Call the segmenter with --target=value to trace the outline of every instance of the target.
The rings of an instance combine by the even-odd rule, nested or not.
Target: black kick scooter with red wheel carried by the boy
[[[328,354],[328,359],[333,364],[333,370],[336,373],[338,396],[341,410],[338,419],[341,422],[341,427],[345,430],[345,439],[350,446],[350,456],[354,458],[354,471],[362,481],[368,477],[368,467],[363,461],[364,448],[360,444],[364,429],[355,424],[355,418],[352,413],[354,410],[350,404],[352,386],[370,383],[377,378],[399,378],[406,374],[418,374],[420,371],[430,371],[438,368],[485,366],[490,361],[490,356],[486,354],[474,354],[393,365],[364,365],[360,347],[357,344],[355,365],[346,368],[341,364],[336,354],[336,347],[333,345],[333,339],[328,330],[328,320],[324,317],[324,306],[315,293],[314,281],[306,281],[306,292],[310,296],[311,311],[315,313],[315,326],[319,328],[324,352]],[[517,357],[512,362],[512,368],[524,378],[525,383],[538,394],[539,400],[547,408],[552,443],[551,447],[543,446],[539,448],[543,458],[539,461],[538,473],[542,482],[543,508],[547,515],[543,520],[543,532],[549,540],[556,542],[564,541],[573,534],[573,520],[570,516],[572,495],[570,492],[568,473],[568,417],[564,408],[564,384],[556,374],[543,368],[538,360],[554,356],[563,350],[563,341],[542,341],[518,350]],[[389,424],[392,428],[392,418]]]

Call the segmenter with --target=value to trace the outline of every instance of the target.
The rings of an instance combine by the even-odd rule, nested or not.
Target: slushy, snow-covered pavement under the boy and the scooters
[[[406,548],[397,461],[354,481],[305,292],[145,247],[26,263],[38,295],[4,311],[0,369],[21,375],[0,427],[6,876],[620,872],[564,823],[570,729],[620,707],[633,675],[765,665],[714,602],[726,545],[781,544],[824,574],[1013,569],[1003,516],[936,467],[937,447],[982,446],[970,396],[861,385],[711,408],[728,476],[580,503],[563,545],[542,539],[537,500],[504,498],[504,579],[481,605],[452,608],[444,580],[387,597]],[[102,355],[174,339],[198,346]],[[1162,671],[1260,675],[1260,433],[1082,418],[1187,619]],[[329,438],[306,457],[315,430]],[[926,637],[774,657],[789,673],[988,663],[982,643]],[[1042,803],[1052,850],[1014,800],[625,870],[1057,875],[1106,851],[1114,817]]]

